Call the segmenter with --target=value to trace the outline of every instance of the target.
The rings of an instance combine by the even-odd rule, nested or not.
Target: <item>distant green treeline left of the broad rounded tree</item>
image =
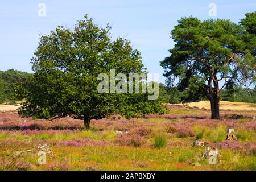
[[[9,69],[0,71],[0,104],[15,104],[14,86],[17,82],[24,82],[31,73]]]

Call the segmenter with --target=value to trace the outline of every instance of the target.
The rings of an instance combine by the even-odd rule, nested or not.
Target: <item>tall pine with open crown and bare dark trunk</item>
[[[255,86],[255,14],[246,14],[239,24],[182,18],[171,32],[175,47],[161,62],[164,76],[189,89],[205,89],[207,83],[212,119],[220,119],[220,92],[226,83]]]

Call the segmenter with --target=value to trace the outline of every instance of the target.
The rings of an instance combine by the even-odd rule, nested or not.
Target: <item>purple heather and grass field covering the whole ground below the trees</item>
[[[207,109],[167,109],[164,115],[92,121],[89,131],[72,118],[43,121],[2,111],[0,170],[256,170],[256,110],[221,110],[217,121]],[[228,129],[237,141],[226,140]],[[216,165],[201,158],[204,147],[192,147],[195,140],[218,148]],[[51,151],[44,165],[38,164],[39,144]]]

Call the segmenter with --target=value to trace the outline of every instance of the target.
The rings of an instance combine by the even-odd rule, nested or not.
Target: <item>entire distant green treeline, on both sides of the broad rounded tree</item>
[[[16,71],[0,71],[0,104],[15,104],[14,87],[18,82],[24,82],[32,73]],[[164,102],[178,104],[181,102],[197,102],[208,100],[207,89],[201,85],[198,89],[168,88],[164,84],[159,85],[160,98]],[[243,89],[227,86],[221,92],[222,101],[251,102],[256,103],[256,89]]]

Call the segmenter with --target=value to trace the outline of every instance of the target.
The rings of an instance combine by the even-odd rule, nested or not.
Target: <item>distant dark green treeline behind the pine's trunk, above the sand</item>
[[[206,85],[194,89],[168,88],[159,85],[159,95],[164,102],[179,104],[181,102],[197,102],[209,100]],[[243,89],[241,87],[226,86],[220,93],[221,101],[256,103],[256,89]]]

